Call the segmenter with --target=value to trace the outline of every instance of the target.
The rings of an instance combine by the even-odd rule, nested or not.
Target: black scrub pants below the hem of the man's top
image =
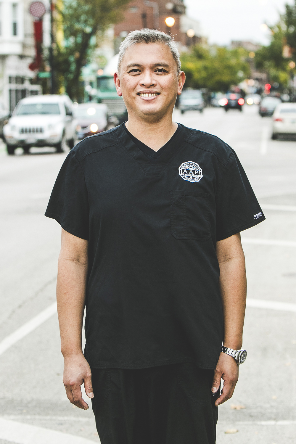
[[[216,442],[213,370],[183,363],[91,371],[92,408],[102,444]]]

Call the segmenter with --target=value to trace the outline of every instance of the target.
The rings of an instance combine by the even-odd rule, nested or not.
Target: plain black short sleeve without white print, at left
[[[45,216],[55,219],[68,233],[89,238],[89,206],[83,170],[70,151],[51,192]]]

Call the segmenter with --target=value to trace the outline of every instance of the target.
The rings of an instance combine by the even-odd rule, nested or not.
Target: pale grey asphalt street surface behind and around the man
[[[271,119],[255,105],[242,113],[175,111],[174,119],[234,148],[267,218],[242,234],[248,357],[233,398],[219,408],[217,444],[295,443],[296,142],[271,140]],[[90,444],[99,442],[91,408],[68,402],[57,315],[43,313],[55,301],[60,246],[59,225],[43,214],[67,153],[32,151],[7,156],[0,145],[0,341],[7,340],[5,351],[0,343],[0,444]]]

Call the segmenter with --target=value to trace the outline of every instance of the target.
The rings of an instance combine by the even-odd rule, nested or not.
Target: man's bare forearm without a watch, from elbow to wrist
[[[87,262],[65,257],[58,262],[57,305],[61,351],[66,357],[82,353],[82,324],[87,281]]]

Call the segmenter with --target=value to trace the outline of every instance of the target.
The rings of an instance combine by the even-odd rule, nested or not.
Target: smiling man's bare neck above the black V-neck
[[[178,123],[173,122],[172,114],[163,116],[158,121],[147,121],[129,113],[126,128],[138,140],[152,150],[158,151],[174,135]]]

